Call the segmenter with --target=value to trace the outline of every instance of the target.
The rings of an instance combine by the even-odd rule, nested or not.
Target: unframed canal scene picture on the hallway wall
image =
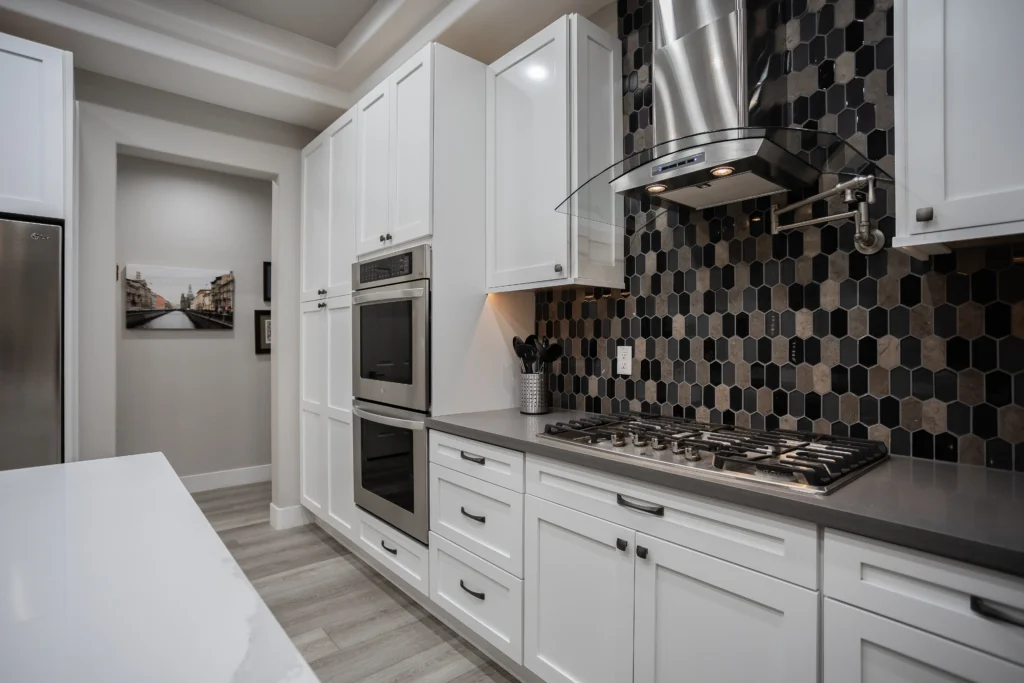
[[[129,265],[125,326],[131,330],[229,330],[234,327],[230,270]]]

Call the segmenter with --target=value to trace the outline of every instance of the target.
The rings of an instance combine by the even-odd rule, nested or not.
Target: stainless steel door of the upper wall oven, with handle
[[[352,296],[352,393],[388,405],[430,410],[430,281]]]

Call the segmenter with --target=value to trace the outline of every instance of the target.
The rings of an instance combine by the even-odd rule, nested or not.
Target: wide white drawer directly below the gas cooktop
[[[805,588],[818,588],[818,531],[811,522],[532,455],[526,458],[526,493]]]

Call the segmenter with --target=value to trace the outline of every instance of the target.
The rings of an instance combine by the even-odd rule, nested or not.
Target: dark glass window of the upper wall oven
[[[413,383],[413,302],[362,304],[359,311],[359,377]]]

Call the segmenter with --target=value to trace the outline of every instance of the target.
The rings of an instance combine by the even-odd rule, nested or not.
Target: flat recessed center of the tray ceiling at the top
[[[375,0],[208,0],[249,18],[334,47]]]

